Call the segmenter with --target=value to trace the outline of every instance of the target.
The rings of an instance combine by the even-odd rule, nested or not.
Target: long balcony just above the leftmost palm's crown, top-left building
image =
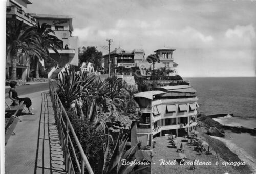
[[[15,15],[16,19],[24,21],[25,24],[32,26],[36,25],[36,19],[33,18],[29,13],[25,13],[21,8],[12,5],[6,7],[6,17],[12,18]]]

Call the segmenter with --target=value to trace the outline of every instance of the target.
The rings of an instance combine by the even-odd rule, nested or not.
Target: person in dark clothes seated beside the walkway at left
[[[20,102],[24,102],[24,104],[26,105],[26,107],[28,108],[29,110],[29,113],[30,115],[34,115],[34,113],[31,112],[31,108],[30,106],[32,105],[32,102],[30,100],[30,98],[28,97],[25,97],[25,98],[19,98],[18,97],[18,93],[15,91],[15,87],[17,85],[17,82],[16,81],[12,81],[10,83],[10,87],[11,89],[9,90],[9,98],[13,101],[12,105],[17,105],[19,104]],[[18,103],[16,103],[18,101]]]

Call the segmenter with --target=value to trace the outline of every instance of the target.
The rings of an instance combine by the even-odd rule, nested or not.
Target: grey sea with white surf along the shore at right
[[[227,113],[215,118],[223,125],[256,128],[256,78],[255,77],[202,77],[183,78],[197,90],[199,112],[205,115]],[[216,138],[216,137],[215,137]],[[248,133],[225,132],[217,138],[256,173],[256,136]]]

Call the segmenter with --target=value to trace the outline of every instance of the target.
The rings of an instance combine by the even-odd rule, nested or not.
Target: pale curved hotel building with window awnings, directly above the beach
[[[197,108],[196,90],[188,85],[164,86],[135,94],[142,116],[137,123],[137,138],[142,148],[150,146],[154,136],[184,136],[196,130]]]

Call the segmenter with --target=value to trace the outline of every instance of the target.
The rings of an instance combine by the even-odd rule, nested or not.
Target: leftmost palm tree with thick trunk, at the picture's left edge
[[[21,53],[28,57],[28,52],[31,47],[34,55],[40,55],[41,49],[38,48],[38,40],[34,39],[36,33],[33,32],[32,27],[28,27],[20,21],[8,22],[6,25],[6,58],[11,57],[11,80],[17,79],[17,58]]]

